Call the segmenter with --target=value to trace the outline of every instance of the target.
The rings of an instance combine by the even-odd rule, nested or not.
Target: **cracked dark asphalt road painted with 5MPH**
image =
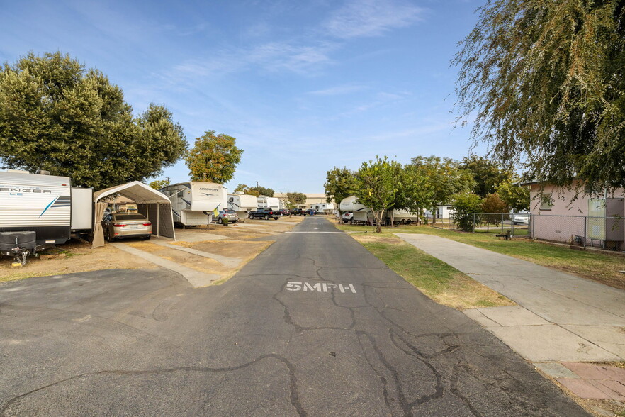
[[[229,282],[162,270],[0,285],[5,416],[585,416],[323,218]]]

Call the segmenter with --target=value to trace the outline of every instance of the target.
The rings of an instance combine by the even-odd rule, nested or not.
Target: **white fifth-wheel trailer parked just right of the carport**
[[[213,212],[226,208],[227,190],[214,182],[189,181],[159,189],[171,201],[174,223],[199,226],[213,221]]]

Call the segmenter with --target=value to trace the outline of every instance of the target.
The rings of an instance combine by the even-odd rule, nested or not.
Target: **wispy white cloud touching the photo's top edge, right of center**
[[[342,39],[378,36],[420,21],[426,9],[400,1],[351,0],[323,24],[326,33]]]

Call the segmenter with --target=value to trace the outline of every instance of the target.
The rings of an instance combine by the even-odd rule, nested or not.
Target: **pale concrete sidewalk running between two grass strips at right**
[[[625,291],[439,236],[395,235],[519,304],[464,313],[526,359],[625,360]]]

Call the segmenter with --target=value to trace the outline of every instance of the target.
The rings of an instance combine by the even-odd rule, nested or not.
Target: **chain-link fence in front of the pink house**
[[[467,226],[468,225],[468,226]],[[451,230],[532,238],[582,247],[625,250],[625,219],[621,217],[563,216],[529,213],[470,213],[463,228],[452,216],[434,225]]]

